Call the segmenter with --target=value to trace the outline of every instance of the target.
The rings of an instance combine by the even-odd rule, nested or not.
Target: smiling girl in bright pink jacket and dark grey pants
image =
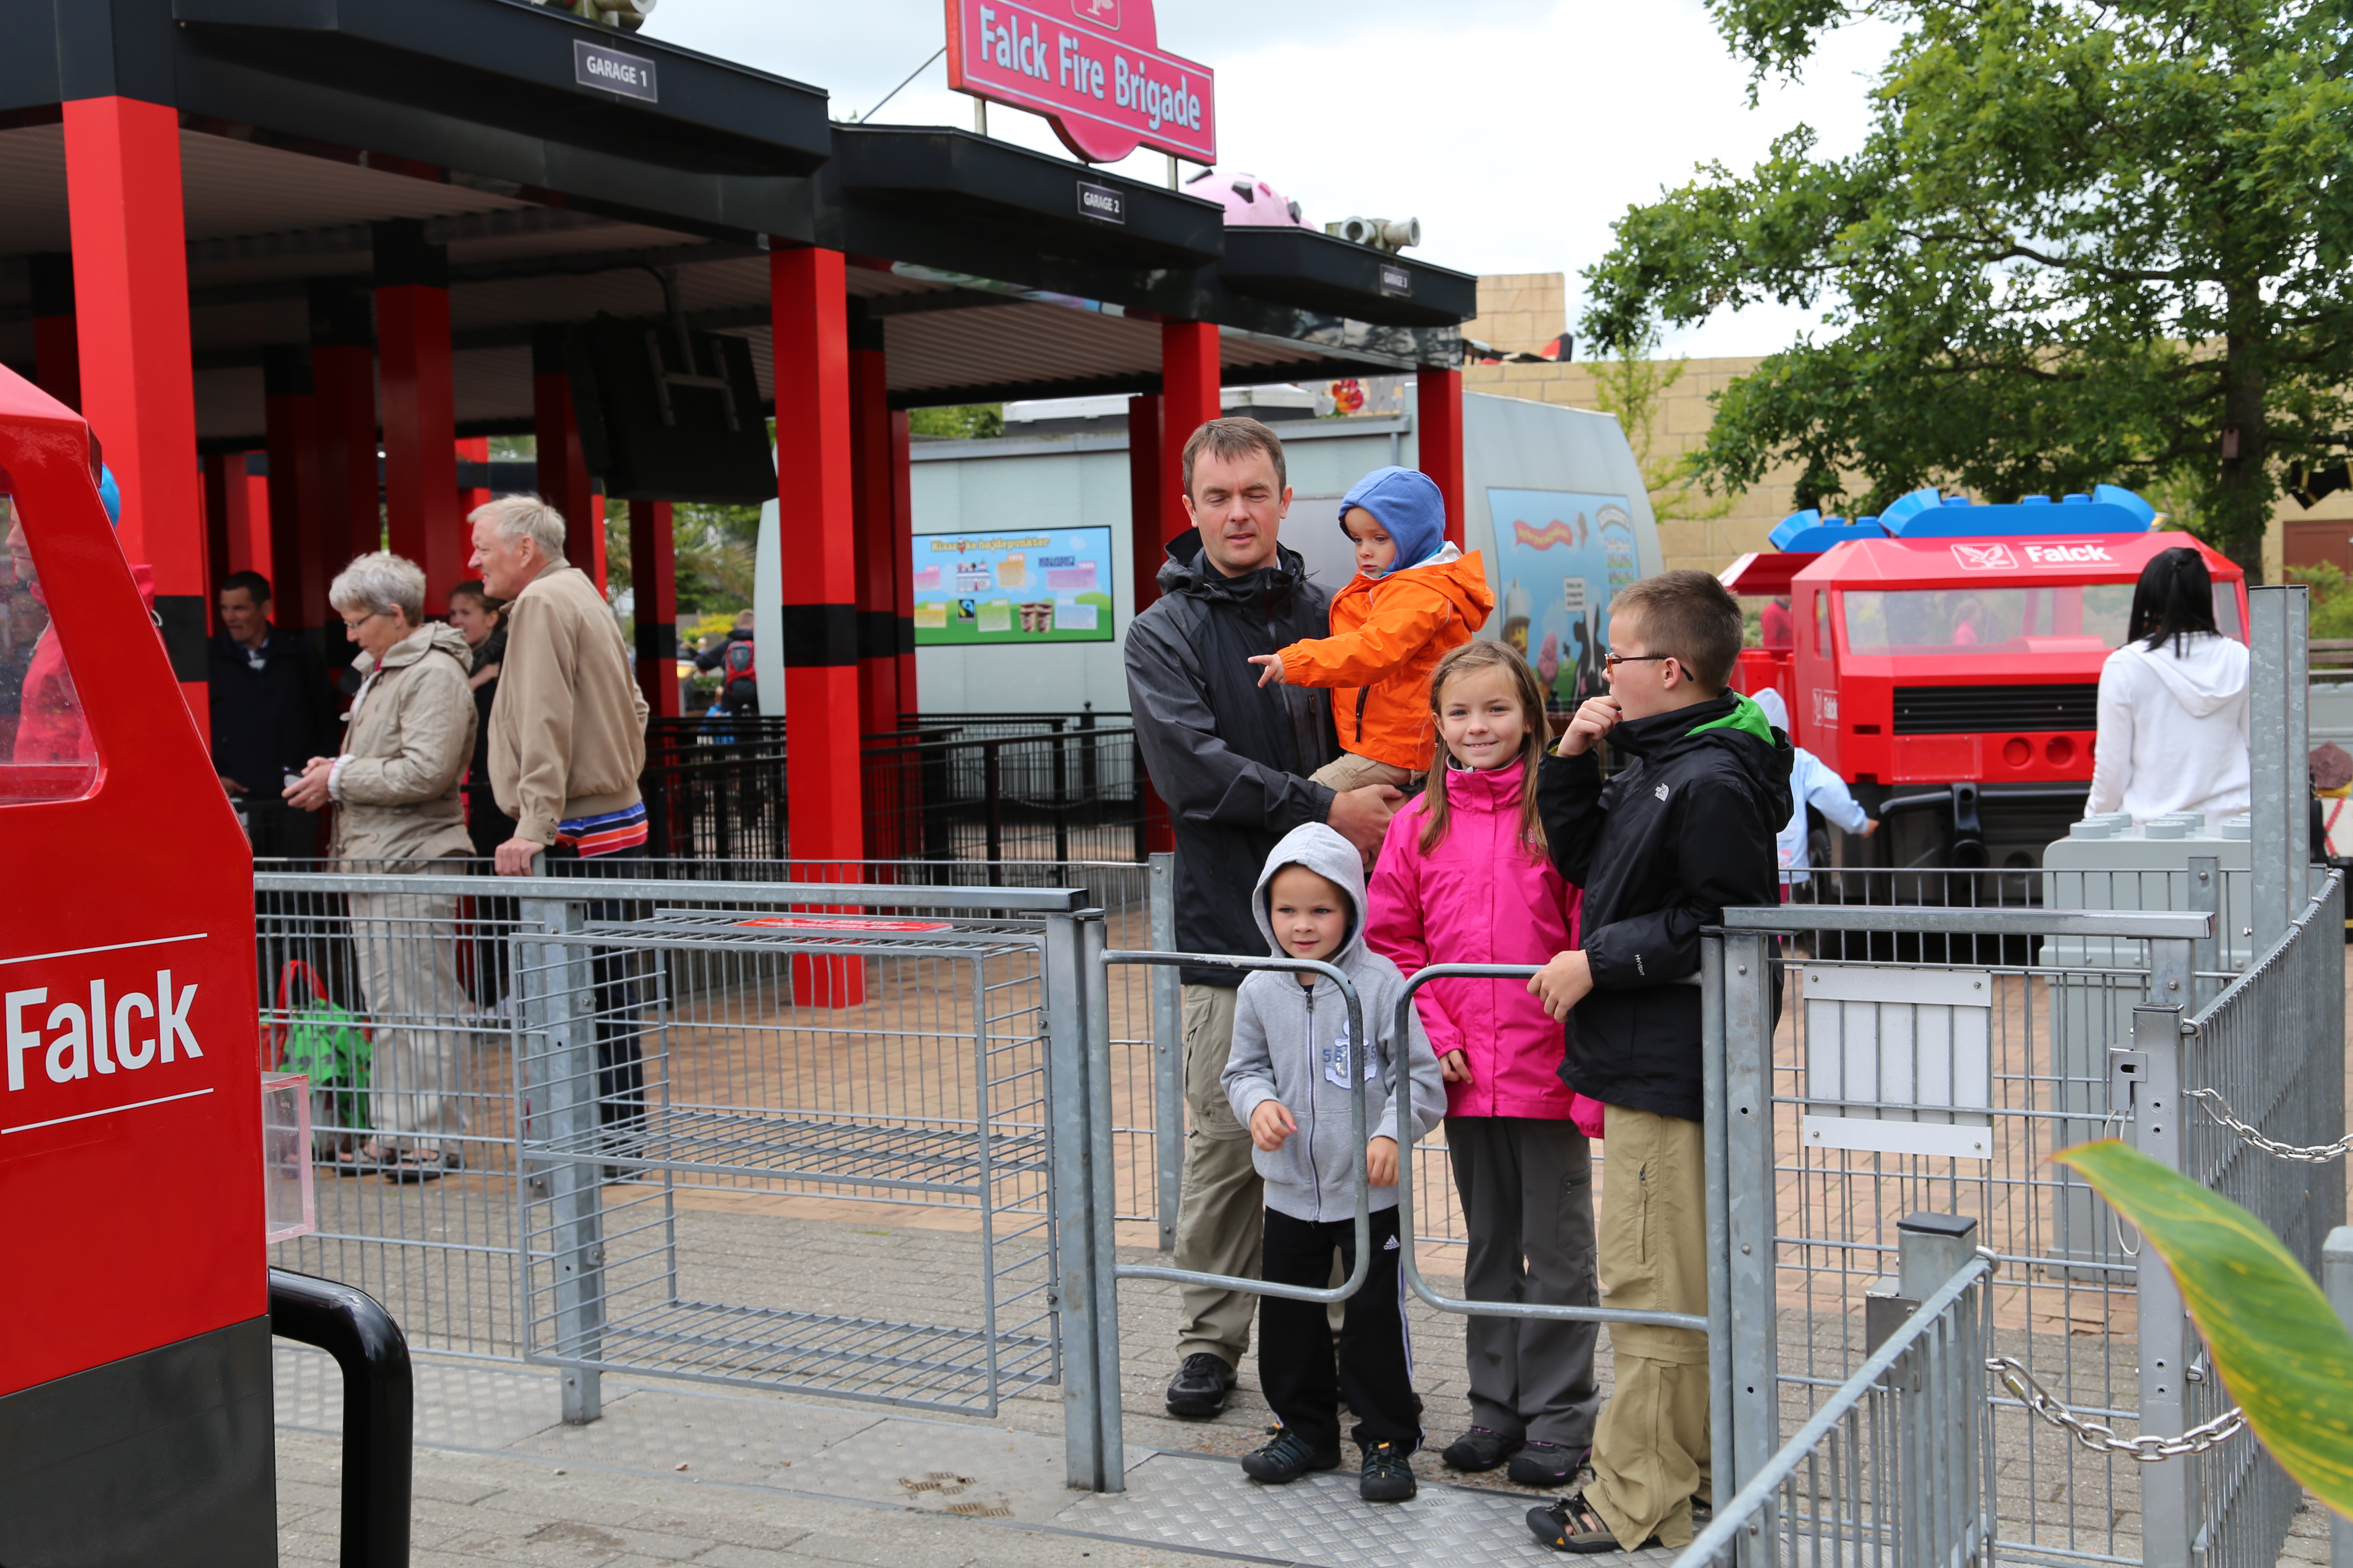
[[[1388,823],[1365,936],[1405,973],[1426,964],[1544,964],[1577,945],[1577,891],[1544,849],[1537,757],[1544,689],[1504,642],[1471,642],[1431,675],[1447,764]],[[1447,1157],[1471,1229],[1471,1300],[1591,1307],[1593,1161],[1560,1081],[1562,1034],[1525,980],[1414,992],[1447,1079]],[[1598,1110],[1598,1107],[1595,1107]],[[1471,1429],[1454,1469],[1511,1462],[1565,1486],[1593,1446],[1593,1324],[1473,1316]]]

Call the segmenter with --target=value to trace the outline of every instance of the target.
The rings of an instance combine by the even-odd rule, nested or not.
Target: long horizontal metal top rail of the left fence
[[[315,893],[332,877],[336,893],[433,893],[454,898],[544,898],[591,903],[748,903],[854,905],[920,910],[1012,910],[1075,914],[1087,889],[929,886],[915,882],[652,882],[635,877],[414,877],[381,872],[254,872],[259,893]],[[572,889],[579,889],[576,893]],[[1214,959],[1231,964],[1233,959]]]

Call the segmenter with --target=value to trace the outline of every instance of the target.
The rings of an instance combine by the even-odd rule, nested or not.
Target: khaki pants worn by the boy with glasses
[[[1701,1126],[1609,1107],[1602,1143],[1600,1258],[1605,1307],[1708,1312],[1708,1190]],[[1692,1500],[1708,1500],[1708,1335],[1609,1326],[1617,1389],[1593,1429],[1586,1502],[1619,1547],[1652,1535],[1692,1544]]]

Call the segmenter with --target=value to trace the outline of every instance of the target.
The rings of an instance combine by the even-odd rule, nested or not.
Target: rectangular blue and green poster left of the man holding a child
[[[918,534],[915,646],[1111,642],[1111,529]]]

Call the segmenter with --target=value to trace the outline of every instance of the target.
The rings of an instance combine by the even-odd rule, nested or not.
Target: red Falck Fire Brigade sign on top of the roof
[[[1160,49],[1153,0],[948,0],[948,87],[1045,115],[1087,162],[1217,162],[1217,78]]]

